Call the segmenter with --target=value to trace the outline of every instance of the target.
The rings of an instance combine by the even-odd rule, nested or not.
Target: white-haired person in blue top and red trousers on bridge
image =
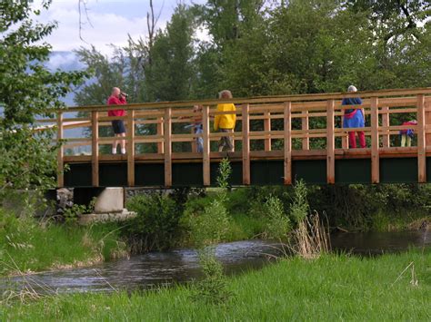
[[[357,92],[354,85],[350,85],[347,89],[349,93]],[[362,100],[359,97],[344,98],[341,105],[349,105],[349,109],[345,110],[343,117],[344,128],[363,128],[365,126],[364,108],[361,107]],[[363,131],[357,131],[359,137],[359,145],[361,148],[366,147],[366,134]],[[348,132],[348,142],[350,148],[356,148],[356,135],[354,131]]]

